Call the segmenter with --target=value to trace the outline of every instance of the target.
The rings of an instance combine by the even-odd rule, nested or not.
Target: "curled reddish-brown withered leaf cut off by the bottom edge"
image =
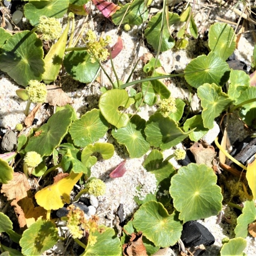
[[[142,232],[131,234],[130,242],[123,244],[124,256],[147,256],[145,245],[142,242]]]

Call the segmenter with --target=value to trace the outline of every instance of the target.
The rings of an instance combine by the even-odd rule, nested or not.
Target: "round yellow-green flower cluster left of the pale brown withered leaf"
[[[46,100],[47,90],[44,83],[37,80],[30,80],[29,86],[25,89],[28,94],[28,99],[35,103],[42,103]]]

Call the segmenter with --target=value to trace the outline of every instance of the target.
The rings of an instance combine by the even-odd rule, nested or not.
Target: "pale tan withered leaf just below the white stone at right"
[[[209,146],[206,143],[196,142],[189,150],[195,157],[196,164],[205,164],[208,167],[212,167],[212,161],[216,156],[216,152],[213,146]]]

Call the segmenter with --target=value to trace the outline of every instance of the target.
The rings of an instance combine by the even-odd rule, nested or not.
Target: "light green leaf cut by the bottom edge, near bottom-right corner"
[[[245,256],[246,240],[242,237],[233,238],[222,245],[220,256]]]

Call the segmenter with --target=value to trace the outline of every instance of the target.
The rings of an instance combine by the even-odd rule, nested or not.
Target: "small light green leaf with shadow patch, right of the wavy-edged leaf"
[[[228,96],[230,99],[236,101],[239,98],[241,92],[250,87],[250,76],[248,76],[243,70],[231,69],[229,84],[228,84]]]

